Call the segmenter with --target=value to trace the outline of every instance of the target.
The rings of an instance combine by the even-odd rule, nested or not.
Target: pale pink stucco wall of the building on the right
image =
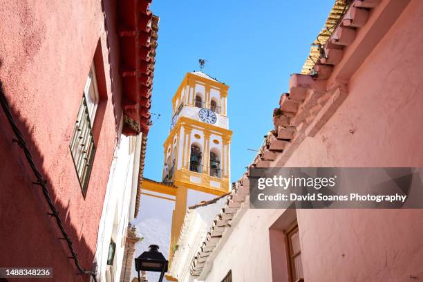
[[[423,1],[412,0],[286,167],[423,167],[422,26]],[[205,281],[231,269],[234,282],[289,281],[281,230],[290,220],[283,210],[245,212]],[[422,209],[299,209],[297,220],[306,282],[423,279]]]

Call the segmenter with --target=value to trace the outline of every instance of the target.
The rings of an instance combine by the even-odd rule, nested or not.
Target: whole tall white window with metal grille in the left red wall
[[[94,64],[91,66],[88,78],[86,80],[84,94],[82,95],[81,106],[75,122],[75,129],[69,147],[75,164],[79,185],[81,185],[82,194],[86,195],[88,180],[93,167],[95,155],[95,144],[93,138],[93,124],[95,111],[99,102],[97,82],[95,79]]]

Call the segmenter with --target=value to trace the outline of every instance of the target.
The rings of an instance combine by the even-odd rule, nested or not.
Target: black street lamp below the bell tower
[[[150,245],[148,252],[143,252],[135,259],[135,270],[138,272],[140,282],[140,271],[161,272],[158,282],[162,282],[164,273],[167,272],[168,261],[158,251],[158,245]]]

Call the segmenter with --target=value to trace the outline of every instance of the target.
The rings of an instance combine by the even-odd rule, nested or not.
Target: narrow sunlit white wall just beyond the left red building
[[[113,156],[97,235],[94,259],[97,281],[109,281],[106,279],[107,268],[110,268],[107,267],[107,256],[112,237],[116,244],[112,271],[114,281],[120,280],[126,228],[135,211],[141,138],[141,134],[136,137],[122,135]]]

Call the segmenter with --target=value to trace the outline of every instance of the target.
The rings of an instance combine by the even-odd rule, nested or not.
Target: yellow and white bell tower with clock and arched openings
[[[204,192],[211,198],[230,191],[228,88],[199,71],[187,73],[173,96],[170,133],[163,145],[162,180],[177,187],[170,261],[185,217],[188,193],[198,193],[201,198],[205,194],[200,192]]]

